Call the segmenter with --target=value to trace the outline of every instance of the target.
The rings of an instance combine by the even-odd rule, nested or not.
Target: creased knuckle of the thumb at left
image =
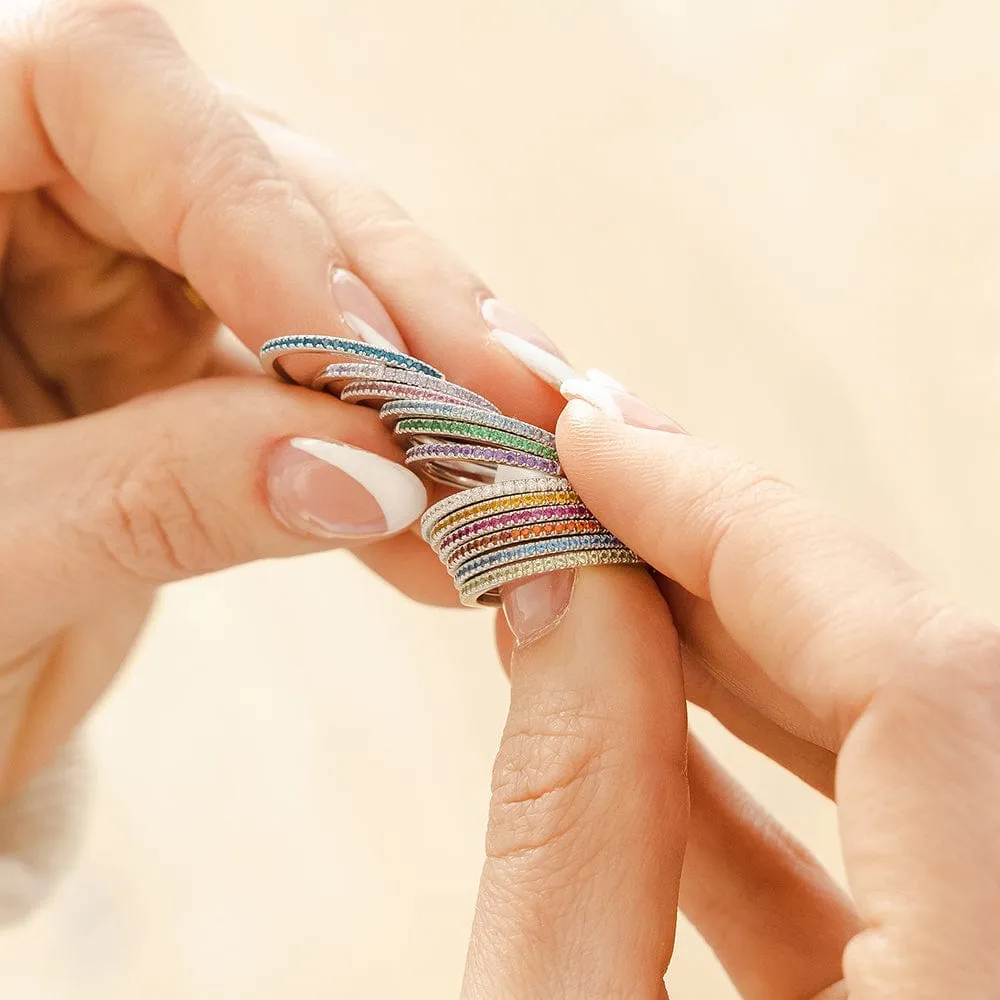
[[[109,477],[93,520],[96,541],[115,568],[142,583],[207,573],[233,561],[202,516],[179,469],[162,454]]]

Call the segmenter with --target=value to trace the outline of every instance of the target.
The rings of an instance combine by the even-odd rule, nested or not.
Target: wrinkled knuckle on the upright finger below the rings
[[[493,770],[490,858],[531,855],[558,871],[586,863],[591,838],[572,834],[604,811],[618,757],[606,730],[606,720],[565,708],[536,709],[530,726],[508,728]]]

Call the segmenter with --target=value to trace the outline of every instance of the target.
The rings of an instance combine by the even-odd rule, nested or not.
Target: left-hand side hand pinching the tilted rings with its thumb
[[[489,341],[474,275],[141,6],[0,19],[0,261],[0,800],[73,732],[161,583],[349,547],[455,602],[403,532],[424,489],[376,415],[263,378],[264,340],[383,338],[557,413]]]

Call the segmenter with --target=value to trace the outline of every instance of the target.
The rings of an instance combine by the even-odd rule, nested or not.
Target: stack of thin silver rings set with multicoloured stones
[[[321,336],[269,340],[260,359],[286,382],[377,407],[406,464],[458,489],[427,510],[421,532],[463,604],[495,606],[506,584],[552,570],[639,562],[563,478],[553,434],[423,361]]]

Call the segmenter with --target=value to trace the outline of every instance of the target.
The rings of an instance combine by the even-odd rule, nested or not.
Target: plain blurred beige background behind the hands
[[[161,6],[583,364],[1000,609],[997,5]],[[505,710],[489,633],[337,555],[164,595],[91,726],[82,863],[0,942],[3,995],[455,996]],[[828,804],[703,729],[836,867]],[[670,980],[732,996],[687,929]]]

